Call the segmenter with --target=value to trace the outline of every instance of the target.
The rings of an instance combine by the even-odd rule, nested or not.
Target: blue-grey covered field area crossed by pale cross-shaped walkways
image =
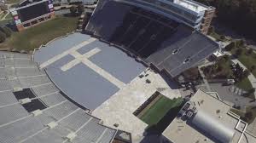
[[[84,37],[84,40],[78,43],[72,37]],[[69,48],[65,45],[62,49],[63,40],[68,41]],[[90,110],[146,69],[123,51],[81,33],[68,35],[39,49],[34,60],[63,93]]]

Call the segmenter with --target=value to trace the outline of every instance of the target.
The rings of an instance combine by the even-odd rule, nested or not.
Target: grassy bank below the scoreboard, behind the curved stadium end
[[[37,49],[40,45],[48,43],[55,37],[61,37],[76,30],[78,19],[78,17],[60,16],[24,31],[14,32],[0,45],[0,49],[24,49],[26,51]]]

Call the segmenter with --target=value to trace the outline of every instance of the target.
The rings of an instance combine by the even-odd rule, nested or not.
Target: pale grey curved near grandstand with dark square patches
[[[108,143],[115,134],[62,96],[30,55],[0,52],[1,143]]]

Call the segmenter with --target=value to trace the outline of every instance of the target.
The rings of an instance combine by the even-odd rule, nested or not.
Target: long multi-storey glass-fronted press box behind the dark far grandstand
[[[130,3],[155,13],[164,14],[167,17],[182,22],[183,24],[207,33],[215,8],[197,3],[193,0],[116,0],[123,3]]]

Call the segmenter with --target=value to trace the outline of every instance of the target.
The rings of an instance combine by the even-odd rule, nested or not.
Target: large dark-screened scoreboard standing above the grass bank
[[[15,20],[18,31],[55,17],[52,0],[22,1],[17,8],[9,11]]]

